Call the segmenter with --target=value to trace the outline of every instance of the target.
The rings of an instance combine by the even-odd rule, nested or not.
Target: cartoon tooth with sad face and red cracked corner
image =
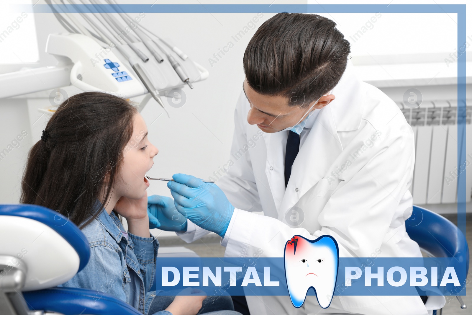
[[[284,262],[290,299],[295,307],[305,301],[313,288],[318,304],[327,308],[336,286],[339,248],[336,240],[322,235],[315,240],[295,235],[285,244]]]

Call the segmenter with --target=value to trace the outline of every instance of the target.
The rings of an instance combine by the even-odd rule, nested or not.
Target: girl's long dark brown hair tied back
[[[55,210],[80,228],[92,222],[118,180],[135,113],[126,99],[101,92],[62,102],[28,153],[20,202]]]

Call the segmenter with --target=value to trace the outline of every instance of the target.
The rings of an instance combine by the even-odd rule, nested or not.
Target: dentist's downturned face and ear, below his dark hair
[[[247,113],[247,122],[257,125],[262,131],[274,133],[295,126],[310,114],[321,109],[335,99],[333,94],[323,95],[305,107],[288,106],[289,98],[284,96],[262,95],[254,91],[244,80],[243,90],[251,109]],[[313,106],[314,104],[314,106]],[[310,108],[313,108],[310,110]],[[310,111],[309,111],[310,110]]]

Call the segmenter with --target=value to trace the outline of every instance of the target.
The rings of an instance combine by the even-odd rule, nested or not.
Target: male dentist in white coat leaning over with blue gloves
[[[257,30],[244,53],[226,174],[216,184],[175,174],[168,187],[188,221],[168,230],[187,242],[213,231],[225,257],[283,257],[296,234],[331,235],[340,257],[421,257],[405,231],[412,128],[395,102],[354,76],[349,43],[335,26],[318,15],[279,13]],[[170,208],[157,208],[164,230]],[[314,296],[300,308],[288,296],[246,300],[252,315],[427,315],[445,303],[335,296],[323,309]]]

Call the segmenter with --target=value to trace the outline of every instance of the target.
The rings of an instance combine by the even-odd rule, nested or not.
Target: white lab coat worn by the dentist
[[[340,257],[421,257],[418,244],[405,231],[413,199],[408,190],[414,166],[413,130],[395,102],[358,80],[352,67],[348,65],[333,89],[336,99],[307,121],[287,189],[287,131],[259,136],[260,129],[246,120],[250,105],[241,93],[230,155],[234,165],[228,161],[226,174],[217,181],[236,207],[221,243],[226,246],[225,257],[261,252],[264,257],[283,257],[285,243],[295,234],[311,239],[333,236]],[[264,215],[252,213],[259,211]],[[192,223],[181,237],[191,242],[205,233]],[[320,310],[314,296],[299,309],[289,297],[246,299],[253,315]],[[430,297],[427,306],[437,309],[444,302],[444,297]],[[418,296],[335,296],[318,314],[325,313],[429,312]]]

